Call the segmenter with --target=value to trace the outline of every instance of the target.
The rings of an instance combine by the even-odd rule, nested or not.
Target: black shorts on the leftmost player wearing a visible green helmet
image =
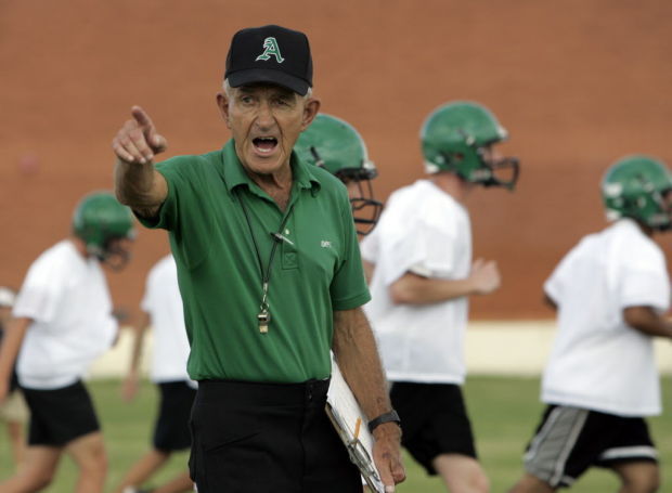
[[[80,380],[60,389],[22,390],[30,410],[29,445],[61,447],[101,429],[91,397]]]

